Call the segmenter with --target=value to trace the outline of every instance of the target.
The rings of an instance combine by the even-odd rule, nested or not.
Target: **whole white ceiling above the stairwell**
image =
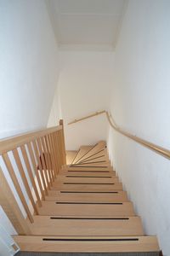
[[[127,0],[48,0],[61,48],[114,49]]]

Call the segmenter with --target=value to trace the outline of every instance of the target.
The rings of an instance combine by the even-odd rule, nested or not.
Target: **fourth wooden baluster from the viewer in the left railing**
[[[37,177],[37,183],[38,183],[39,189],[40,189],[41,194],[42,194],[42,200],[45,200],[44,191],[43,191],[43,189],[42,189],[42,182],[41,182],[41,180],[40,180],[39,172],[38,172],[38,170],[37,170],[37,164],[36,164],[36,160],[35,160],[35,156],[34,156],[33,149],[32,149],[32,147],[31,147],[31,143],[27,143],[26,145],[27,145],[27,147],[28,147],[28,152],[29,152],[30,157],[31,157],[32,166],[33,166],[33,168],[34,168],[34,172],[35,172],[36,177]]]

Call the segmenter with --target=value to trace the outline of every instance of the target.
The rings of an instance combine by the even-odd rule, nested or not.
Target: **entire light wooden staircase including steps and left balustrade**
[[[60,120],[57,127],[0,141],[0,163],[0,205],[21,252],[159,255],[156,236],[144,236],[105,142],[68,152],[66,165]]]

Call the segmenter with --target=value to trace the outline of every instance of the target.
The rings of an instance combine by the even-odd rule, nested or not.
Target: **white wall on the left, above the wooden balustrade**
[[[46,127],[59,57],[45,1],[1,0],[0,32],[2,138]],[[5,175],[8,177],[7,172]],[[8,234],[14,234],[4,219],[1,209],[0,224]]]

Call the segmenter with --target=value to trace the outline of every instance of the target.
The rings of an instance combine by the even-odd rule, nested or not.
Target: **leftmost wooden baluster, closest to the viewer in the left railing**
[[[10,159],[8,157],[8,154],[5,153],[2,156],[3,156],[4,163],[7,166],[8,173],[10,174],[10,177],[11,177],[13,183],[14,183],[14,187],[15,187],[15,189],[16,189],[19,197],[20,197],[20,201],[22,202],[22,205],[25,208],[26,214],[27,214],[30,222],[33,223],[34,219],[32,218],[30,209],[29,209],[29,207],[27,206],[27,203],[26,203],[26,199],[25,199],[25,197],[24,197],[24,195],[22,193],[22,190],[20,189],[20,184],[19,184],[18,179],[17,179],[17,177],[16,177],[16,175],[14,173],[14,168],[13,168],[13,166],[11,164],[11,161],[10,161]]]

